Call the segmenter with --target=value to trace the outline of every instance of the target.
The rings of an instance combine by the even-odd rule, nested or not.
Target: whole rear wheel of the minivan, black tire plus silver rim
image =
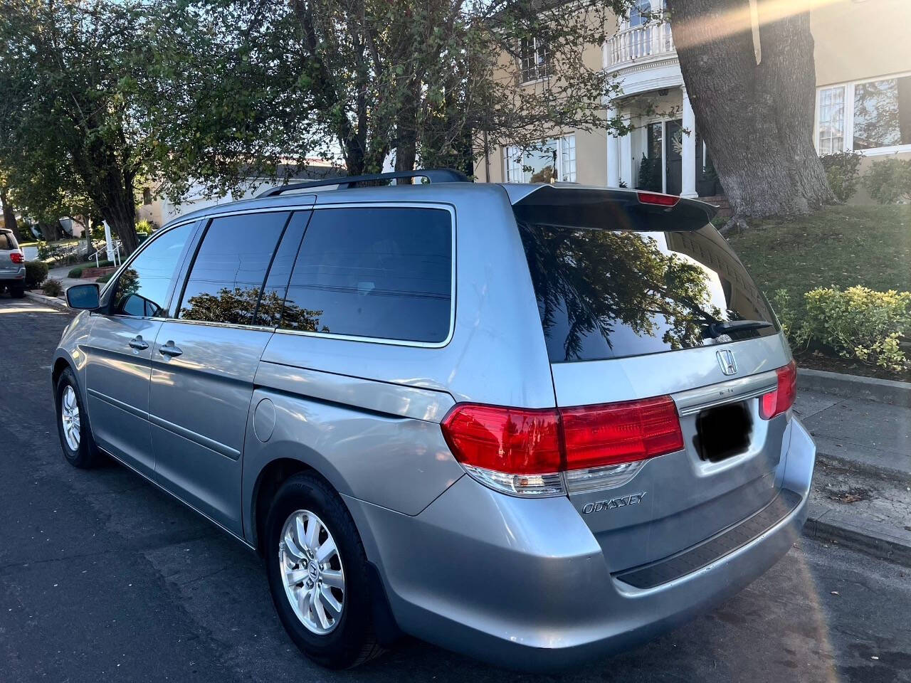
[[[352,668],[383,651],[374,635],[360,535],[319,475],[295,474],[281,484],[264,547],[275,610],[307,657],[326,668]]]

